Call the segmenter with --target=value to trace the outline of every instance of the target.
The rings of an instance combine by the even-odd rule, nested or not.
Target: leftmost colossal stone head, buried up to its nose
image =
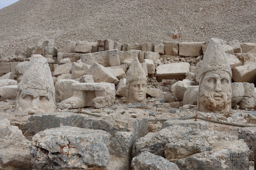
[[[15,111],[28,114],[55,112],[53,77],[43,56],[31,57],[17,90]]]

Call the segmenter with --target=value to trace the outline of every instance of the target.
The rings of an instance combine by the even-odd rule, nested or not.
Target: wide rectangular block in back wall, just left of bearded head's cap
[[[179,56],[201,56],[202,44],[205,42],[180,42]]]

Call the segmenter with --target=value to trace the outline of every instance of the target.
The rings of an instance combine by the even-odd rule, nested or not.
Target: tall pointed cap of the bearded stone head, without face
[[[202,74],[208,71],[221,70],[226,71],[232,77],[230,64],[227,60],[227,55],[222,47],[223,40],[211,38],[207,49],[204,53],[203,61],[198,63],[196,68],[196,81],[200,81]]]

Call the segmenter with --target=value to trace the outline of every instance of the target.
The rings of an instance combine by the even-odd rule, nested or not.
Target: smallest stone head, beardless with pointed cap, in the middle
[[[126,76],[126,102],[127,103],[143,103],[146,100],[147,77],[141,67],[138,58],[135,58]]]

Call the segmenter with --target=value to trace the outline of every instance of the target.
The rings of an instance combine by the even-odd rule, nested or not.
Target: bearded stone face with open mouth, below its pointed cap
[[[231,94],[229,73],[226,71],[208,71],[199,84],[199,110],[229,112]]]

